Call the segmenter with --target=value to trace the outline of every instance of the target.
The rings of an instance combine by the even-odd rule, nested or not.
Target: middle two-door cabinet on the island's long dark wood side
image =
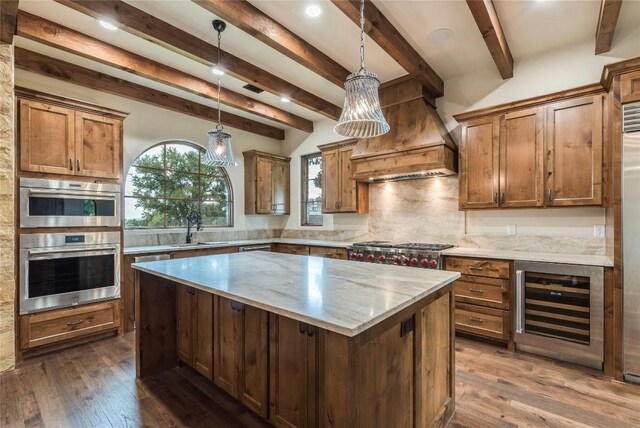
[[[213,382],[263,417],[268,415],[268,313],[214,298]]]

